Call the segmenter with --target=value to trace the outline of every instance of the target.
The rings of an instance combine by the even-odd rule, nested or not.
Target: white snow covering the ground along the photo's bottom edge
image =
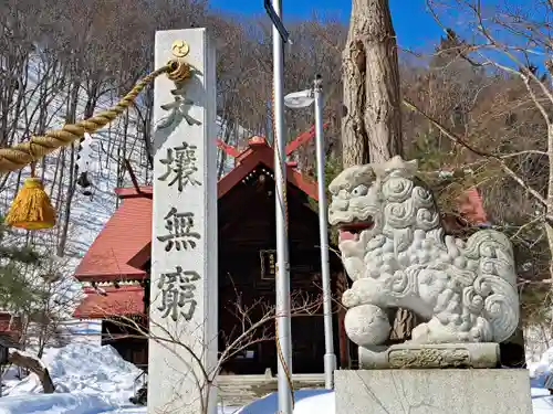
[[[33,374],[20,380],[11,368],[2,379],[0,414],[146,414],[128,399],[140,385],[140,370],[124,361],[109,346],[98,343],[100,323],[70,325],[76,340],[66,347],[48,349],[43,362],[56,386],[56,393],[42,394]],[[553,349],[539,362],[529,363],[534,414],[553,414],[553,396],[543,381],[553,367]],[[295,393],[295,414],[334,414],[334,393],[326,390],[300,390]],[[220,414],[273,414],[276,394],[270,394],[244,407],[219,407]]]

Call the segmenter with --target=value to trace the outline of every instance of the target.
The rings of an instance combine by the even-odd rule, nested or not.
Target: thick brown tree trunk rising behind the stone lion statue
[[[344,168],[401,155],[399,66],[388,0],[352,1],[343,71]],[[392,339],[408,339],[416,323],[415,315],[399,309]]]

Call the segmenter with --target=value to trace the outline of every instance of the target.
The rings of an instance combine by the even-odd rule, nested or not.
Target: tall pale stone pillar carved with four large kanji
[[[216,412],[216,60],[205,29],[156,33],[155,64],[190,77],[155,83],[148,414]],[[133,234],[128,235],[129,237]]]

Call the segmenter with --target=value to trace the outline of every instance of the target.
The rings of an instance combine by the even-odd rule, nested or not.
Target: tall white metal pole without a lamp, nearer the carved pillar
[[[286,157],[284,140],[284,54],[282,2],[265,0],[273,21],[273,112],[274,112],[274,183],[276,210],[276,316],[275,325],[279,382],[279,413],[292,414],[292,330],[290,326],[290,268],[288,251]],[[272,9],[272,10],[271,10]],[[280,29],[280,30],[279,30]],[[283,33],[284,31],[284,33]]]

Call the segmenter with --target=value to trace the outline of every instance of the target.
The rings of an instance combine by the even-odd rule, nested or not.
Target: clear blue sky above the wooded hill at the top
[[[210,4],[233,13],[264,13],[263,0],[211,0]],[[282,4],[284,19],[309,18],[316,10],[344,22],[349,20],[351,0],[282,0]],[[438,42],[441,28],[426,12],[425,0],[390,0],[390,9],[399,46],[420,47]]]

